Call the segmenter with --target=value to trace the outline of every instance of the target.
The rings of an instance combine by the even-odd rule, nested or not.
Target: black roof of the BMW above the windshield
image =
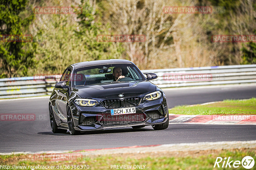
[[[132,64],[129,60],[122,60],[122,59],[109,59],[109,60],[94,60],[94,61],[84,61],[80,63],[71,64],[70,66],[76,68],[80,67],[87,67],[87,66],[95,66],[101,64]]]

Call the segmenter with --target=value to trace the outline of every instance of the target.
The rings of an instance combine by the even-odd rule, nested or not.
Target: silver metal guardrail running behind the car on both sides
[[[151,82],[160,88],[256,83],[256,64],[141,70],[156,73]],[[0,79],[0,98],[50,95],[61,75]]]

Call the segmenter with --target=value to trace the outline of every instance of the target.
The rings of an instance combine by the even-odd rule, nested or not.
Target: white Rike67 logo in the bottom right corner
[[[254,159],[251,156],[245,156],[242,159],[242,162],[240,160],[230,160],[230,157],[228,157],[228,160],[226,157],[224,159],[222,159],[221,157],[217,157],[213,167],[231,168],[233,166],[234,168],[237,168],[242,165],[245,169],[251,169],[254,166],[254,163]]]

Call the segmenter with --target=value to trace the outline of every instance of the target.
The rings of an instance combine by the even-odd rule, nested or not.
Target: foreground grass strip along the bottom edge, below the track
[[[78,160],[69,161],[36,161],[31,159],[31,155],[9,155],[0,156],[1,165],[27,166],[71,166],[71,165],[89,165],[89,169],[114,169],[111,165],[131,165],[131,169],[214,169],[214,163],[217,157],[230,157],[231,160],[239,160],[245,156],[251,156],[256,160],[256,148],[252,149],[232,149],[232,150],[207,150],[207,151],[188,151],[188,152],[157,152],[157,153],[134,153],[134,154],[116,154],[105,156],[83,157]],[[32,156],[33,157],[33,156]],[[233,161],[233,162],[234,162]],[[223,161],[220,163],[222,166]],[[134,168],[135,166],[141,168]],[[232,164],[231,164],[232,166]],[[256,165],[254,165],[255,167]],[[87,166],[88,167],[88,166]],[[4,169],[4,168],[1,168]],[[48,168],[38,168],[48,169]],[[67,169],[72,169],[67,168]],[[78,168],[73,168],[78,169]],[[86,169],[86,168],[85,168]],[[122,169],[122,168],[120,168]],[[124,169],[124,168],[123,168]],[[218,169],[218,168],[216,168]],[[223,168],[221,168],[223,169]],[[238,168],[226,169],[244,169],[242,165]]]

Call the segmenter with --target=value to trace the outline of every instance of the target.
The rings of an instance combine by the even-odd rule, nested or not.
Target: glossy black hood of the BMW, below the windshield
[[[73,89],[79,96],[86,98],[124,98],[128,96],[140,96],[156,90],[156,85],[150,81],[119,81],[94,85],[78,86]],[[124,95],[122,97],[118,95]]]

